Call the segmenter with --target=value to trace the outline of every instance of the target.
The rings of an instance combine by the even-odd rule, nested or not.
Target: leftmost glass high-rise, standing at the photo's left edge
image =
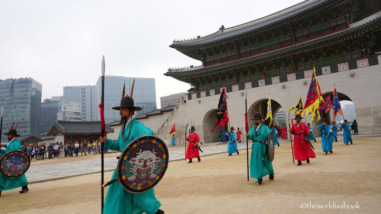
[[[3,133],[18,123],[17,133],[41,133],[42,84],[32,78],[0,80],[0,106],[4,107]]]

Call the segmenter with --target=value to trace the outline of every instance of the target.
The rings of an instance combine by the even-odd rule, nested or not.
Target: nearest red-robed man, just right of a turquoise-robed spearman
[[[310,162],[309,158],[315,158],[315,152],[311,149],[311,146],[308,144],[309,129],[305,123],[301,122],[301,115],[295,115],[294,123],[289,130],[291,134],[295,135],[294,137],[294,156],[298,160],[296,166],[300,166],[302,161]]]

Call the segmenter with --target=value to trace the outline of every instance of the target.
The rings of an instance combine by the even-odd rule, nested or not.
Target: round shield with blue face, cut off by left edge
[[[0,172],[5,177],[19,177],[29,169],[29,155],[21,150],[5,153],[0,158]]]

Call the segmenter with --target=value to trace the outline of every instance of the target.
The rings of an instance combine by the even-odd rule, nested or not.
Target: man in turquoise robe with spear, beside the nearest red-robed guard
[[[263,119],[260,113],[254,114],[255,125],[251,127],[245,136],[249,140],[254,141],[253,147],[251,147],[250,155],[250,177],[258,179],[256,185],[262,184],[262,178],[266,175],[270,175],[269,179],[274,179],[274,169],[272,168],[272,162],[270,161],[269,155],[266,150],[266,142],[269,134],[272,133],[270,128],[259,122],[256,125],[256,119]],[[252,119],[253,120],[253,119]],[[264,160],[262,158],[264,157]]]

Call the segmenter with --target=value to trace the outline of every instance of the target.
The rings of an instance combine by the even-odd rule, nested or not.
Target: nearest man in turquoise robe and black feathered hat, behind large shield
[[[99,142],[104,143],[107,149],[123,151],[134,139],[143,135],[154,134],[154,131],[132,118],[134,111],[139,111],[142,108],[135,107],[133,99],[128,95],[122,97],[120,106],[112,109],[120,110],[123,126],[116,142],[103,137],[99,138]],[[117,169],[115,169],[111,179],[115,177],[117,177]],[[131,193],[125,190],[119,182],[114,182],[108,187],[103,214],[142,214],[143,212],[146,214],[163,214],[164,212],[159,209],[160,205],[161,203],[155,197],[154,188],[142,193]]]

